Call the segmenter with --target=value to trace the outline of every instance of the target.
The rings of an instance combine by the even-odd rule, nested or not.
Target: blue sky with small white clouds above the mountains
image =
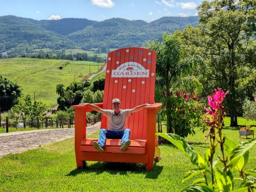
[[[202,0],[0,0],[0,16],[35,20],[113,17],[151,22],[165,16],[195,16]]]

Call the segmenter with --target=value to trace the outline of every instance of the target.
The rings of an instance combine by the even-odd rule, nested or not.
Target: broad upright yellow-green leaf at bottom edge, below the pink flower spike
[[[220,191],[232,191],[232,180],[225,172],[221,171],[218,168],[215,168],[215,177]]]

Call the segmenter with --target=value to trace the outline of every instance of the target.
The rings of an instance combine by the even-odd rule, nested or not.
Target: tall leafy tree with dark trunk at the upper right
[[[237,126],[238,84],[256,69],[256,1],[213,0],[198,7],[199,24],[178,32],[190,52],[207,59],[206,87],[229,90],[230,126]],[[243,98],[244,99],[244,98]],[[242,100],[243,100],[242,99]]]

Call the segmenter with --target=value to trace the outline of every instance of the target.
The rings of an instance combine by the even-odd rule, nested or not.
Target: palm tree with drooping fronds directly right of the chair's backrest
[[[148,43],[146,47],[157,52],[156,84],[166,90],[166,95],[170,95],[172,84],[177,85],[181,78],[187,81],[188,78],[184,77],[191,74],[196,67],[199,66],[201,70],[206,67],[204,59],[199,55],[186,57],[177,35],[164,33],[162,41],[156,39]],[[167,116],[167,121],[168,119],[170,119],[169,116]],[[172,133],[173,130],[168,125],[169,123],[167,123],[167,133]]]

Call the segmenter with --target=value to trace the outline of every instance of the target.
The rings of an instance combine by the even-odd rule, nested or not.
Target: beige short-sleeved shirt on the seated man
[[[127,119],[131,116],[131,109],[121,109],[118,115],[116,115],[114,110],[103,109],[103,115],[108,118],[108,130],[124,131]]]

